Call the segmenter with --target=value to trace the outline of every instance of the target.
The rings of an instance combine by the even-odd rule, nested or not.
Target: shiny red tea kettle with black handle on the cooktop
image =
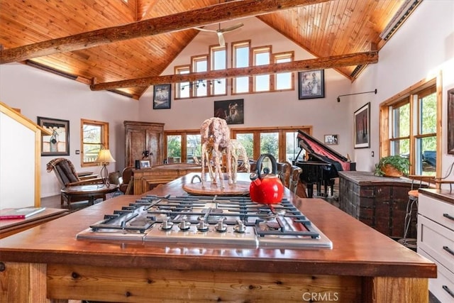
[[[272,173],[265,168],[261,174],[263,159],[270,158],[272,165]],[[277,162],[273,155],[269,153],[260,155],[257,160],[257,170],[250,174],[249,194],[253,202],[260,204],[276,204],[281,202],[284,194],[284,185],[282,185],[279,176],[277,175]]]

